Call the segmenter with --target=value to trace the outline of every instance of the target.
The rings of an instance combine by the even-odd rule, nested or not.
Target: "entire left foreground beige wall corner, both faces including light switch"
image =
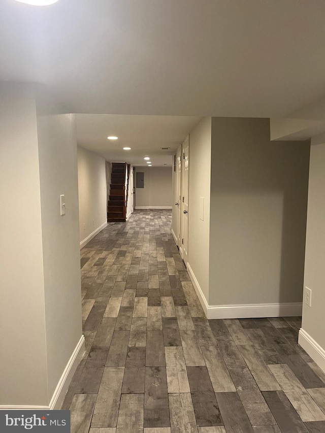
[[[75,121],[37,109],[28,85],[4,83],[0,94],[0,406],[48,407],[78,343],[76,362],[84,349]]]

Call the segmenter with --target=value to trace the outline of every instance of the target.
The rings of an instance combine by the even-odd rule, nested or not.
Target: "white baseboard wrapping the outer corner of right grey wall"
[[[247,317],[301,316],[302,302],[275,304],[209,305],[190,264],[187,271],[208,319],[243,319]]]

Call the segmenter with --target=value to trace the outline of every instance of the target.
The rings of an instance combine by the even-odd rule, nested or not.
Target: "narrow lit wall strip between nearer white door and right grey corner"
[[[188,198],[188,264],[207,302],[209,302],[210,181],[211,117],[207,117],[202,119],[189,135]],[[202,197],[203,220],[201,219]]]

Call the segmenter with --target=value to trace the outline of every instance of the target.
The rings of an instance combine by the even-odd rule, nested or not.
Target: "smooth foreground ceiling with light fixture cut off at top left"
[[[283,117],[325,94],[323,0],[0,0],[0,79],[74,113]]]

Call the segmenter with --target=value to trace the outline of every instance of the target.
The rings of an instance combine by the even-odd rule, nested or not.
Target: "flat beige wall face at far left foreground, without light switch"
[[[23,84],[0,84],[0,405],[48,401],[36,105]]]

